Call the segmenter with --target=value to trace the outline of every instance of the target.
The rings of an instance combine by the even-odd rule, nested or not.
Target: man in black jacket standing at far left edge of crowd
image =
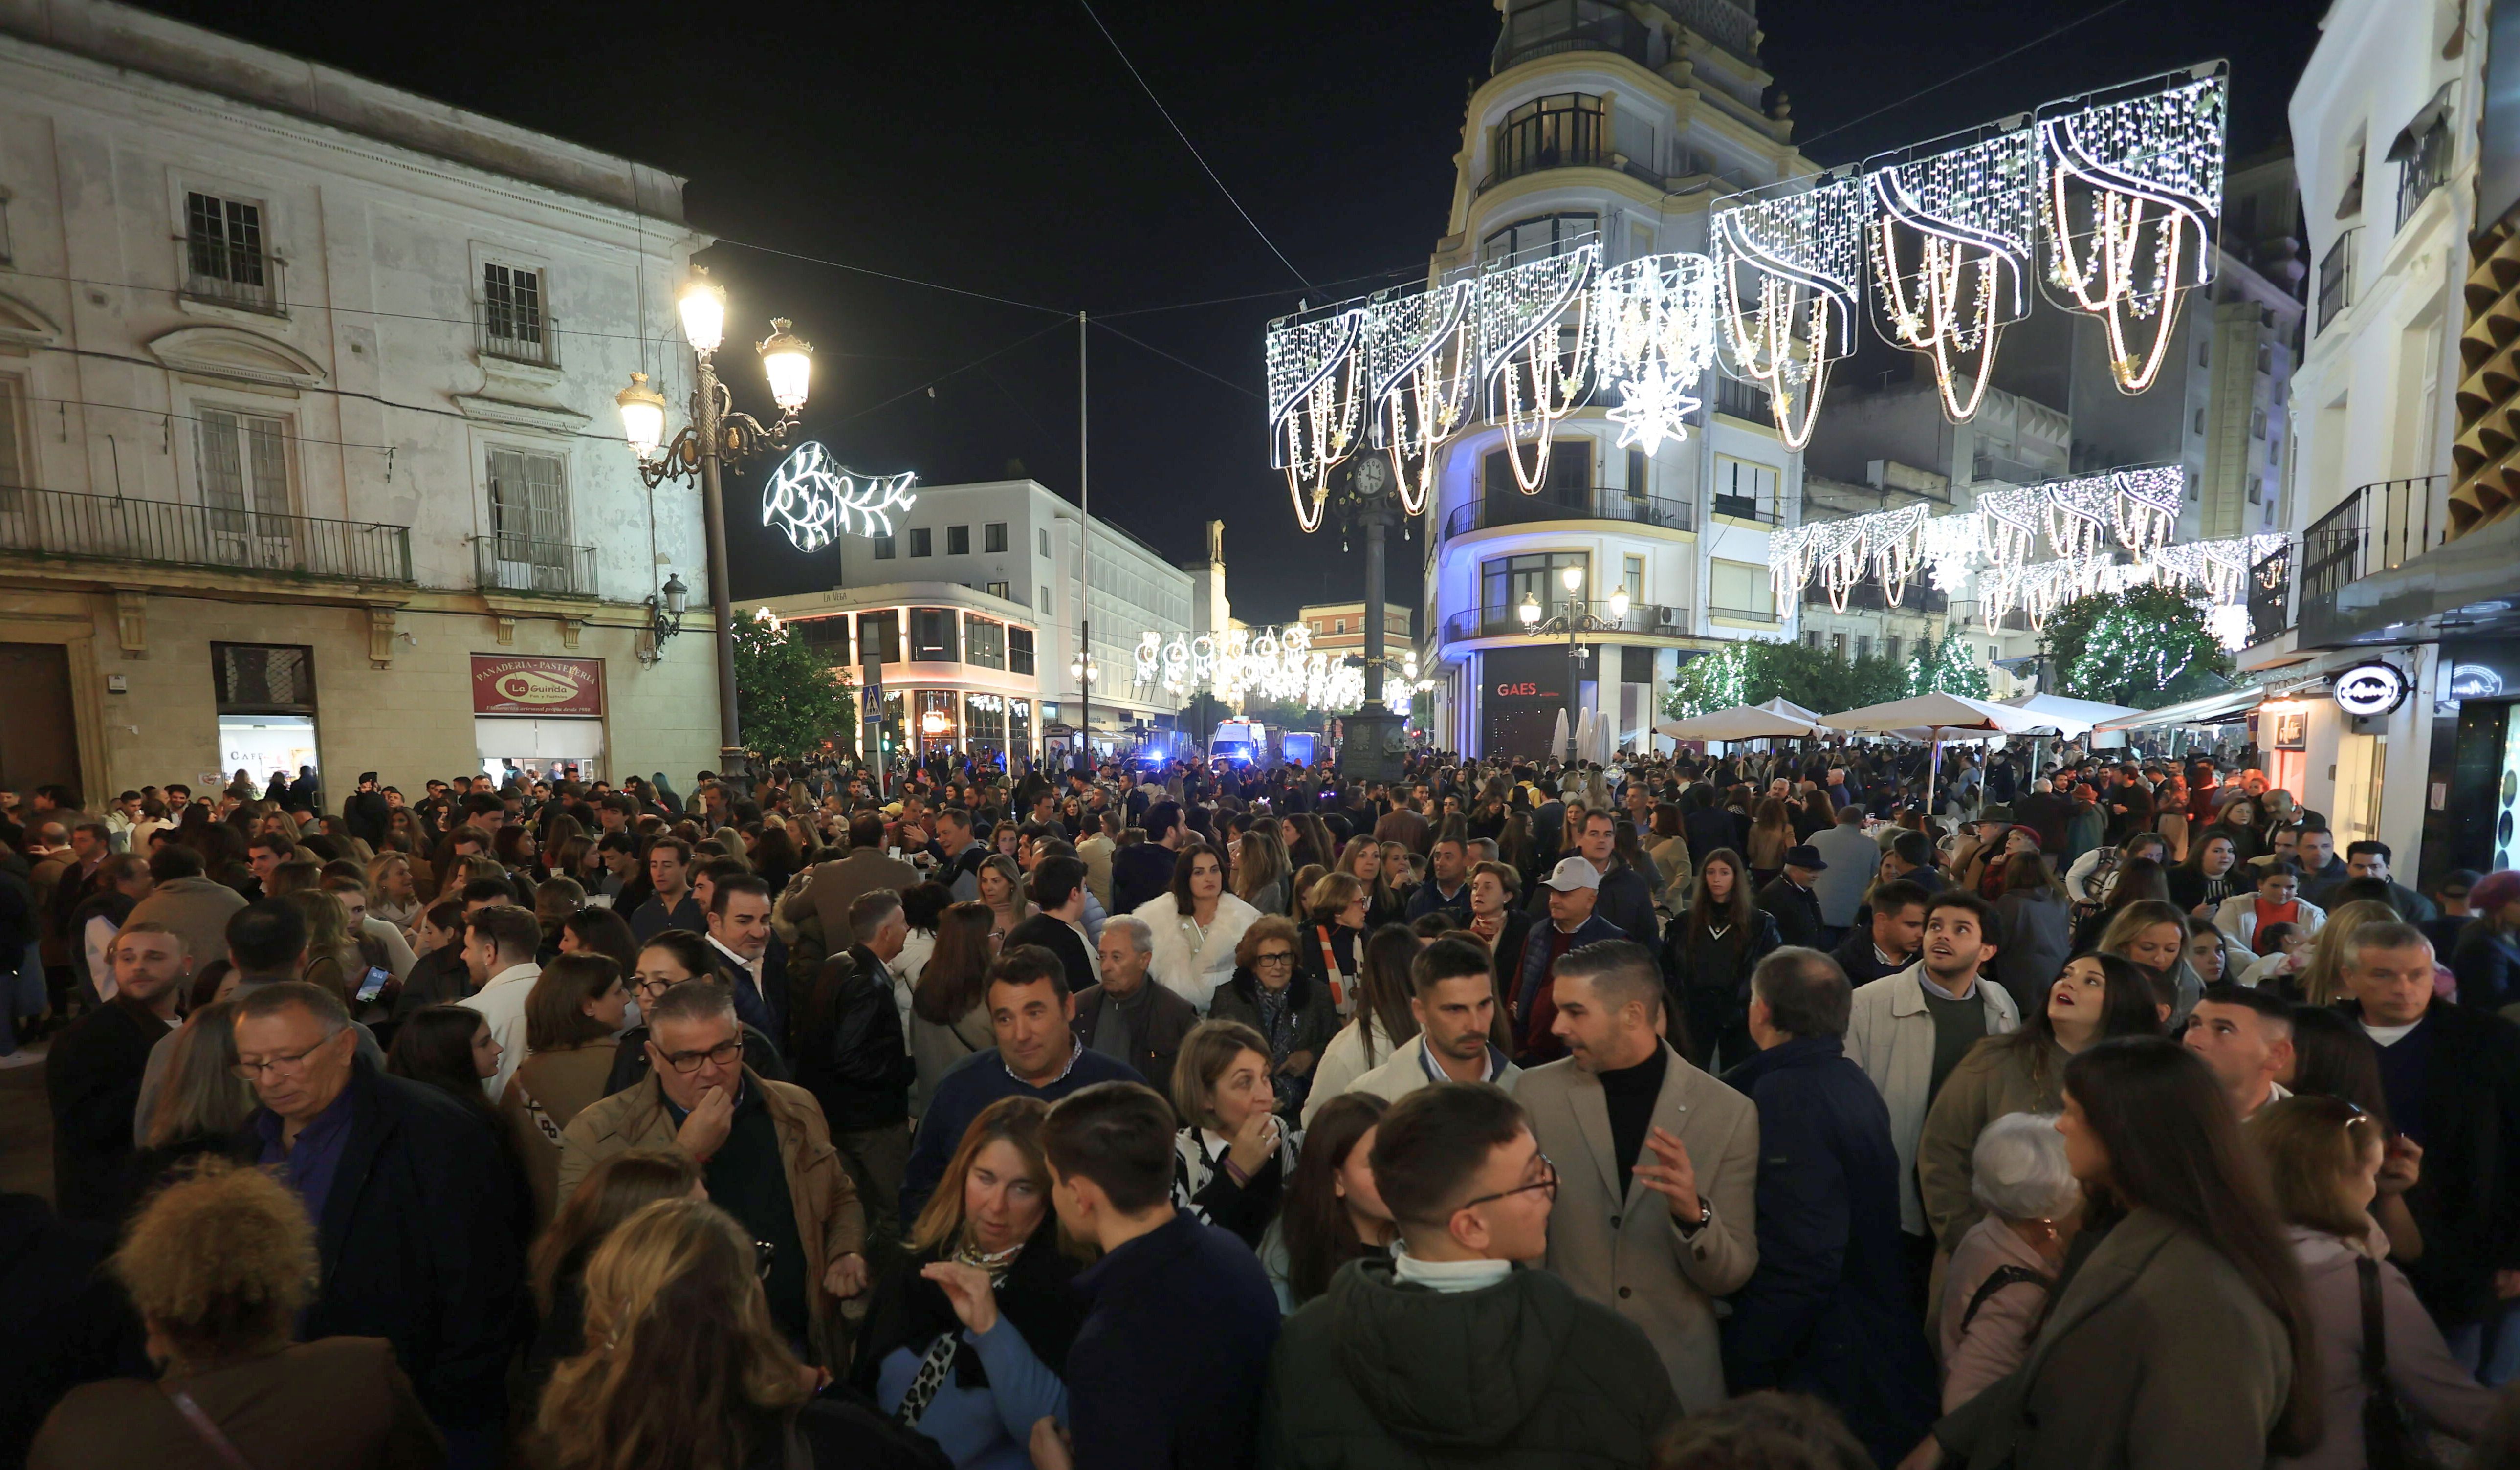
[[[164,923],[113,935],[113,998],[53,1041],[43,1087],[53,1102],[53,1203],[71,1220],[121,1223],[131,1178],[131,1112],[149,1049],[174,1029],[192,976],[184,935]]]

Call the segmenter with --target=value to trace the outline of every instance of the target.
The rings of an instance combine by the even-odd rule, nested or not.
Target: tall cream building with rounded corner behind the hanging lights
[[[1504,0],[1492,76],[1469,96],[1452,219],[1431,280],[1583,242],[1603,265],[1704,252],[1709,202],[1812,171],[1779,108],[1761,111],[1749,0]],[[1537,600],[1608,628],[1575,703],[1623,744],[1651,739],[1658,688],[1688,651],[1794,633],[1769,593],[1767,542],[1792,524],[1802,461],[1764,393],[1709,373],[1688,436],[1620,446],[1603,406],[1557,426],[1537,494],[1502,429],[1444,449],[1426,509],[1421,666],[1436,678],[1434,741],[1540,756],[1567,709],[1567,638],[1517,615]],[[1532,454],[1530,446],[1517,446]],[[1580,587],[1567,590],[1575,570]],[[1613,618],[1613,593],[1628,610]]]

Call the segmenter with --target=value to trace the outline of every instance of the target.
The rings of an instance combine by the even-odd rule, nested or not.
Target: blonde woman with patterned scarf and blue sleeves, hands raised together
[[[1051,1210],[1048,1112],[1000,1097],[963,1130],[857,1334],[849,1382],[955,1465],[1031,1465],[1031,1425],[1068,1417],[1086,1306]]]

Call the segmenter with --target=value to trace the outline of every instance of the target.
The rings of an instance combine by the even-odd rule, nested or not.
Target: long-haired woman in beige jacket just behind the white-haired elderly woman
[[[2117,1036],[2160,1034],[2152,978],[2119,956],[2079,953],[2049,983],[2044,1004],[2024,1009],[2019,1031],[1971,1046],[1933,1094],[1915,1145],[1918,1200],[1933,1238],[1956,1251],[1983,1213],[1971,1195],[1971,1155],[1988,1122],[2006,1112],[2056,1112],[2066,1059]]]

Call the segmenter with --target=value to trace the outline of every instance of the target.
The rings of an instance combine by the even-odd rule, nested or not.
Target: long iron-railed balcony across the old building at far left
[[[60,489],[0,489],[0,550],[325,582],[413,580],[411,527]]]

